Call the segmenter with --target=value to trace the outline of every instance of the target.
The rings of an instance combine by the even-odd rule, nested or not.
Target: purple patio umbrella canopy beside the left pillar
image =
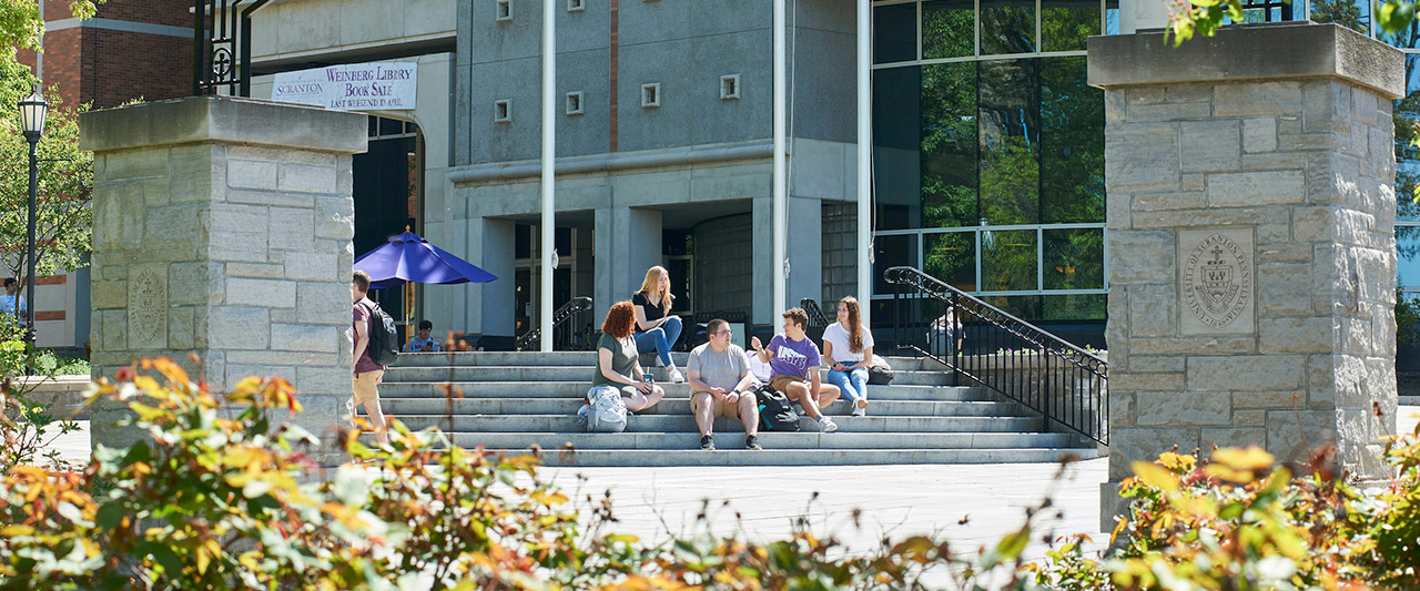
[[[488,283],[497,278],[408,230],[355,259],[355,270],[369,273],[369,287],[378,290],[405,283]]]

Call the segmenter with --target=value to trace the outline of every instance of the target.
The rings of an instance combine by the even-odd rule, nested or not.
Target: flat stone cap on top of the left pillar
[[[361,153],[365,114],[234,97],[189,97],[80,115],[80,148],[126,148],[222,142],[318,152]]]

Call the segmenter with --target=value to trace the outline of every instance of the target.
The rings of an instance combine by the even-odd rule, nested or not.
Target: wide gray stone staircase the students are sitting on
[[[676,354],[676,364],[684,367],[684,357]],[[716,419],[717,450],[700,450],[690,388],[663,379],[663,368],[655,369],[666,389],[660,403],[632,416],[625,433],[586,433],[575,413],[591,386],[592,352],[406,354],[385,372],[381,401],[410,429],[439,426],[463,448],[537,446],[548,465],[1015,463],[1098,455],[1081,436],[1044,432],[1042,419],[1021,405],[946,385],[947,376],[923,371],[920,359],[889,362],[896,379],[869,386],[869,416],[846,416],[852,409],[842,399],[826,409],[838,432],[819,433],[805,418],[798,433],[761,432],[763,452],[746,450],[740,422],[726,418]]]

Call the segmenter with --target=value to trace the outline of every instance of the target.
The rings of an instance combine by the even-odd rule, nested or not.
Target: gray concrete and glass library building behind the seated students
[[[856,23],[852,1],[788,4],[794,305],[856,291]],[[660,264],[677,313],[775,325],[772,3],[557,6],[554,305],[591,296],[599,318]],[[1375,34],[1369,10],[1272,1],[1247,14]],[[408,224],[490,270],[498,281],[422,288],[413,317],[500,348],[538,317],[541,11],[538,0],[288,0],[253,28],[256,97],[281,71],[419,64],[417,107],[372,112],[365,166],[385,172],[356,182],[356,254]],[[919,267],[1103,347],[1105,115],[1085,43],[1164,26],[1163,3],[883,0],[872,14],[875,277]],[[1414,37],[1380,36],[1403,48]],[[1420,116],[1410,102],[1397,112]],[[1420,178],[1411,136],[1397,124],[1400,192]],[[1420,291],[1420,206],[1402,203],[1402,286]],[[890,297],[878,280],[873,324],[895,320]]]

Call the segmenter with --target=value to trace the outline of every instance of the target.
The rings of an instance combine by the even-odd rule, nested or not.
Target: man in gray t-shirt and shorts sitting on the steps
[[[700,426],[700,449],[714,450],[710,435],[716,416],[734,416],[744,423],[744,446],[760,448],[760,406],[750,389],[757,382],[750,374],[744,349],[730,344],[730,322],[720,318],[706,325],[710,342],[690,351],[686,376],[690,382],[690,412]]]

